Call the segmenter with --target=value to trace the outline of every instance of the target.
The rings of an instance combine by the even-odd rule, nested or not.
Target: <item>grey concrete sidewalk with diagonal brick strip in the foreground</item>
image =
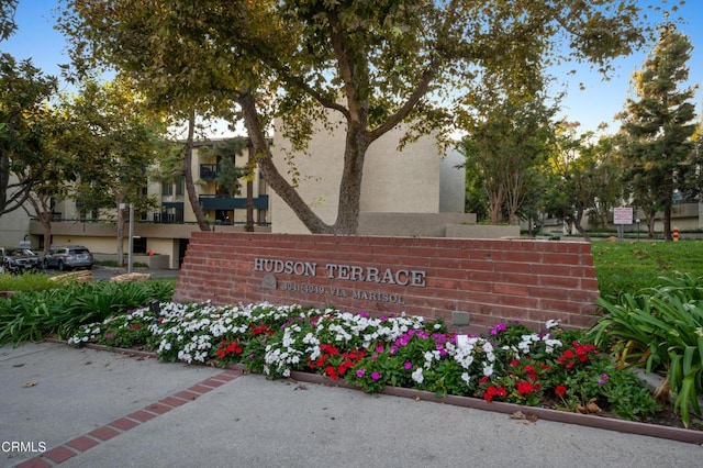
[[[700,467],[703,448],[56,343],[0,348],[0,467]]]

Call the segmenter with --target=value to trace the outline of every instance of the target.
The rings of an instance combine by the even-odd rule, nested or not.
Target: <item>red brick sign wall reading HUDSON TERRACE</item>
[[[175,300],[405,311],[483,332],[587,327],[598,296],[588,243],[198,232]]]

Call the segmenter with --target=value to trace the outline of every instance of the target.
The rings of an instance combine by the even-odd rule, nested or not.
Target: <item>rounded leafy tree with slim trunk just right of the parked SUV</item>
[[[120,207],[132,203],[138,213],[154,204],[144,197],[144,189],[148,167],[166,151],[167,122],[148,112],[121,79],[104,85],[86,81],[66,105],[75,125],[66,151],[74,155],[78,175],[76,201],[83,212],[116,209],[121,261],[126,220]]]

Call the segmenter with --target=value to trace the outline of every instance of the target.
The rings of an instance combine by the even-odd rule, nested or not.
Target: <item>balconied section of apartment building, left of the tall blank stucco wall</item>
[[[247,182],[241,181],[237,193],[232,194],[217,181],[222,165],[221,156],[208,151],[219,141],[198,142],[194,146],[191,170],[196,179],[194,188],[205,220],[215,231],[242,231],[247,221]],[[248,152],[236,155],[234,164],[244,167]],[[270,231],[268,188],[264,179],[255,171],[249,183],[253,200],[254,227],[256,231]],[[153,196],[158,208],[135,213],[133,220],[133,253],[144,256],[142,260],[159,268],[178,268],[185,255],[188,241],[193,231],[198,231],[196,214],[188,201],[185,178],[176,180],[150,180],[144,188],[145,196]],[[98,258],[114,258],[116,252],[116,210],[90,213],[81,210],[75,200],[57,201],[53,208],[52,245],[78,244],[88,247]],[[125,219],[127,212],[125,211]],[[7,245],[16,245],[21,241],[30,242],[35,249],[44,247],[44,229],[26,215],[26,231],[20,229],[5,236],[3,219],[0,218],[0,236]],[[16,222],[16,220],[15,220]],[[15,225],[16,225],[15,224]],[[123,249],[127,252],[129,239]]]

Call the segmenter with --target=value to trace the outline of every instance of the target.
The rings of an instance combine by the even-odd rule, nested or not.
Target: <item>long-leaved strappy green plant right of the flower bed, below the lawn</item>
[[[661,371],[677,394],[674,409],[689,425],[703,395],[703,277],[685,274],[615,301],[599,299],[605,315],[591,328],[595,343],[612,344],[623,365]]]

